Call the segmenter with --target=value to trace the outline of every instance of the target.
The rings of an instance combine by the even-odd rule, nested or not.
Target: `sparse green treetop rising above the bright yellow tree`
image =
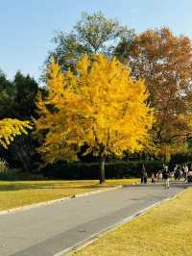
[[[83,13],[81,20],[70,33],[60,32],[54,38],[56,49],[50,53],[48,63],[51,57],[54,57],[62,70],[67,70],[68,67],[73,70],[82,55],[95,53],[112,55],[120,40],[124,39],[128,42],[133,36],[132,30],[120,26],[118,21],[108,19],[101,12],[93,15]]]

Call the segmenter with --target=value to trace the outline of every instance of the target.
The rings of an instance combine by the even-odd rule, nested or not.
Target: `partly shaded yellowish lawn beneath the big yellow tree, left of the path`
[[[0,210],[92,192],[117,185],[139,183],[139,179],[98,181],[0,181]]]

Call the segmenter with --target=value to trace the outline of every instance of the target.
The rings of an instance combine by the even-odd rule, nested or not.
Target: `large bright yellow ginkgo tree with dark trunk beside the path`
[[[138,151],[149,141],[153,110],[142,80],[133,81],[130,70],[116,59],[85,55],[75,74],[62,73],[54,61],[47,71],[47,97],[39,95],[37,131],[44,141],[39,152],[46,163],[74,159],[86,143],[101,161],[100,183],[105,181],[109,154]]]

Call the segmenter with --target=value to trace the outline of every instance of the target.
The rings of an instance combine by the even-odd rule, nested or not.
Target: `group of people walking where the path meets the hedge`
[[[180,179],[183,178],[185,183],[192,182],[192,165],[176,165],[174,169],[170,171],[169,167],[163,164],[162,170],[152,173],[151,181],[152,183],[155,183],[158,180],[163,180],[165,189],[169,189],[170,177],[175,178],[176,181],[180,181]],[[143,165],[141,171],[141,184],[147,184],[147,181],[148,173],[145,166]]]

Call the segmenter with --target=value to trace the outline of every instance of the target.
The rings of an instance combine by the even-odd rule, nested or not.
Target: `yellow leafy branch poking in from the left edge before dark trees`
[[[29,121],[4,118],[0,120],[0,145],[8,148],[16,136],[27,134],[27,129],[31,128]]]

